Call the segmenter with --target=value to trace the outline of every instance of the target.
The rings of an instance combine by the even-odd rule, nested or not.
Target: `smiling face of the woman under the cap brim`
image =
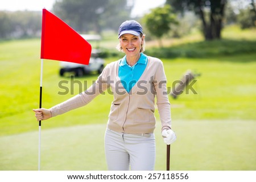
[[[144,36],[124,34],[119,39],[123,52],[127,57],[138,57],[144,41]]]

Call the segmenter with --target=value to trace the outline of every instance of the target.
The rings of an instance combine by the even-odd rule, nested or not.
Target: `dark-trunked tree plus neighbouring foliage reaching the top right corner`
[[[238,19],[233,12],[233,19],[241,24],[241,28],[250,28],[256,26],[256,11],[254,0],[166,0],[168,5],[174,7],[174,12],[183,14],[185,11],[193,11],[201,20],[201,30],[205,40],[221,39],[221,30],[224,21],[227,20],[228,5],[247,6],[246,9],[240,9]],[[230,6],[229,6],[230,8]],[[232,10],[231,10],[232,11]],[[233,10],[234,11],[234,10]],[[230,9],[229,9],[230,12]],[[232,16],[229,14],[229,16]]]

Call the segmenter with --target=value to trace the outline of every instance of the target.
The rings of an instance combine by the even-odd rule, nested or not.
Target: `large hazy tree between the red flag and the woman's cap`
[[[100,33],[102,26],[116,28],[117,23],[129,18],[133,6],[127,6],[127,1],[59,0],[53,5],[53,11],[76,31]]]

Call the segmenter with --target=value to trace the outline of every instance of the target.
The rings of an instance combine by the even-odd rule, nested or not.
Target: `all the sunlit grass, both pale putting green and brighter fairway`
[[[200,43],[197,39],[185,45],[181,40],[174,45],[185,45],[187,50],[200,45],[202,52],[210,50],[210,57],[162,58],[168,87],[188,69],[201,74],[193,85],[197,94],[189,91],[177,99],[170,97],[172,126],[177,133],[171,150],[171,170],[256,170],[256,53],[251,48],[256,39],[248,35],[252,31],[241,32],[233,27],[228,31],[224,41]],[[230,40],[231,35],[241,39]],[[234,41],[242,45],[233,45]],[[231,46],[224,46],[228,52],[240,48],[243,51],[214,51],[224,43]],[[107,58],[106,62],[115,60]],[[0,65],[0,170],[37,170],[38,123],[32,108],[39,105],[40,40],[2,41]],[[58,94],[63,91],[59,82],[69,81],[59,77],[58,72],[58,61],[44,60],[45,108],[72,96],[70,92]],[[82,87],[96,79],[97,75],[76,78]],[[72,87],[70,81],[67,86]],[[74,87],[75,94],[79,94],[78,84]],[[86,107],[43,121],[42,170],[106,170],[103,142],[112,99],[106,93]],[[157,111],[156,118],[155,170],[164,170],[166,146],[160,136]]]

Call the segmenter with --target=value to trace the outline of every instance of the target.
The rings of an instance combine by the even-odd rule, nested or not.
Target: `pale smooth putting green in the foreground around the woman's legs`
[[[155,130],[155,170],[166,170],[166,145]],[[174,121],[171,170],[256,170],[254,121]],[[105,125],[42,132],[41,170],[107,170]],[[0,170],[38,169],[38,132],[0,137]]]

